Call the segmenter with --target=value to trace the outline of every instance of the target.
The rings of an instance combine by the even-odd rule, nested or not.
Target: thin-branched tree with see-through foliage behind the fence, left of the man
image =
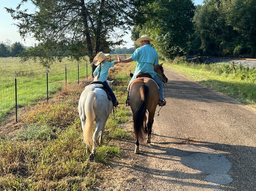
[[[33,13],[20,9],[29,1],[35,5]],[[46,59],[61,42],[79,53],[74,59],[87,54],[92,61],[99,51],[122,44],[125,32],[117,29],[129,29],[134,15],[132,1],[127,0],[21,0],[16,9],[5,9],[19,21],[22,38],[32,35],[46,48]]]

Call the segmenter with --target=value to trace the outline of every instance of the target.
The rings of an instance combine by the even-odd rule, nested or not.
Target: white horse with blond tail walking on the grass
[[[107,81],[111,87],[113,81]],[[94,160],[94,154],[96,153],[96,141],[101,131],[99,143],[102,143],[102,137],[105,130],[105,124],[109,118],[113,109],[113,103],[108,99],[107,93],[99,88],[103,87],[101,84],[91,84],[85,87],[82,92],[78,111],[81,119],[83,137],[86,144],[86,153],[90,153],[90,146],[93,146],[92,152],[89,156],[90,160]],[[93,132],[93,123],[96,121],[96,128]]]

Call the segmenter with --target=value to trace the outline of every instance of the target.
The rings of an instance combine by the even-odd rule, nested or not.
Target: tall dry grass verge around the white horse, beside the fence
[[[120,128],[131,121],[131,111],[124,105],[129,70],[115,66],[110,79],[120,108],[106,123],[95,162],[88,162],[77,109],[90,77],[80,86],[68,85],[48,102],[30,106],[20,115],[15,132],[0,134],[0,190],[94,190],[101,185],[101,171],[122,152],[115,140],[132,137]]]

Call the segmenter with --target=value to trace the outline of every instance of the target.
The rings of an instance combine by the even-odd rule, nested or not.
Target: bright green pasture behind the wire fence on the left
[[[67,85],[78,83],[79,78],[87,78],[92,73],[87,64],[87,60],[64,59],[46,70],[32,60],[21,63],[19,58],[0,58],[0,121],[13,112],[15,106],[48,99]]]

